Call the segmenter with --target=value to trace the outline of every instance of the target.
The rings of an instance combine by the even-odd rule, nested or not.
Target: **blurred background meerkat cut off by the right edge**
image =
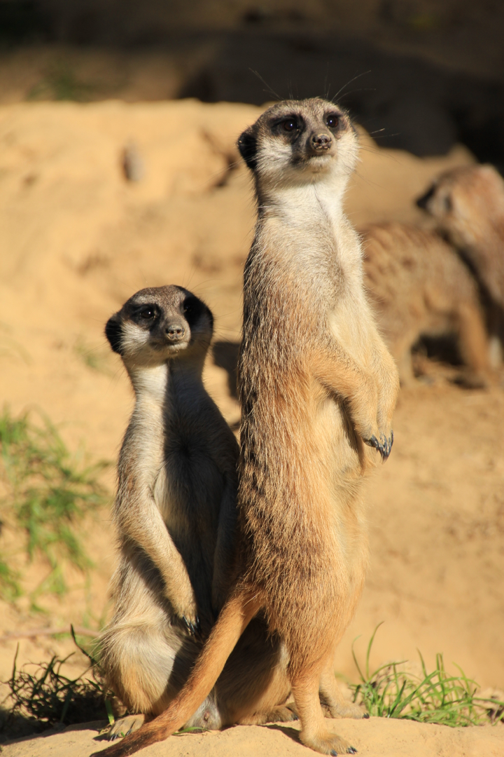
[[[504,180],[490,165],[454,168],[438,176],[417,204],[434,217],[490,300],[486,310],[497,365],[504,344]]]

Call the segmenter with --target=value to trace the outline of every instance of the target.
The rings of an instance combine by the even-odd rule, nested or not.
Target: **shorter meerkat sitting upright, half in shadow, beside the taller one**
[[[142,289],[107,322],[135,389],[114,522],[120,562],[100,664],[132,713],[156,715],[181,689],[232,580],[238,444],[202,380],[212,313],[184,288]],[[294,717],[286,662],[251,625],[188,724],[218,728]],[[118,721],[111,737],[143,716]]]

